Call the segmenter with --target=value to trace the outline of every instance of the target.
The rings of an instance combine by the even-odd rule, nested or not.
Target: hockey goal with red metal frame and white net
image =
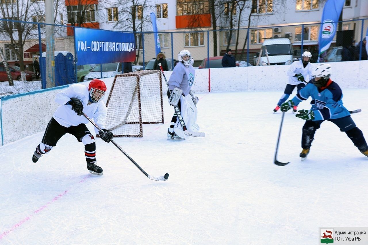
[[[115,137],[142,137],[143,124],[163,123],[160,71],[116,75],[106,107],[105,126]]]

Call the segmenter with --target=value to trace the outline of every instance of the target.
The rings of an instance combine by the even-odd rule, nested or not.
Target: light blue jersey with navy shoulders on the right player
[[[349,111],[343,106],[343,93],[336,82],[332,81],[329,86],[321,89],[314,85],[314,79],[312,79],[292,100],[297,106],[309,96],[312,97],[311,110],[314,111],[314,121],[350,116]]]

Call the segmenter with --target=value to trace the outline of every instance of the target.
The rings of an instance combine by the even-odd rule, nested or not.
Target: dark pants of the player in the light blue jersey
[[[309,149],[311,147],[312,141],[314,140],[314,133],[321,126],[323,121],[325,120],[305,121],[301,138],[301,147],[303,149]],[[328,121],[339,127],[340,131],[345,132],[354,145],[358,148],[358,150],[364,152],[368,149],[367,142],[364,139],[362,131],[355,125],[351,116],[329,119]]]

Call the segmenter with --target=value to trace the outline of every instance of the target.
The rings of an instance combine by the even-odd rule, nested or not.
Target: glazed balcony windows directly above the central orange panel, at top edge
[[[177,0],[176,15],[209,14],[209,1]]]

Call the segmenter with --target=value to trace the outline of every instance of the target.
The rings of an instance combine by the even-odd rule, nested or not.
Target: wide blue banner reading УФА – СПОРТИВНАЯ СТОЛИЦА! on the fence
[[[75,27],[77,65],[135,60],[133,33]]]

